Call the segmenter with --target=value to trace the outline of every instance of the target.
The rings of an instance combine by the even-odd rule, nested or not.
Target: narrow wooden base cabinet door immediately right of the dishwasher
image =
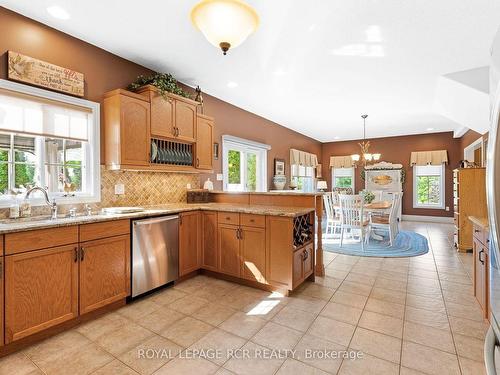
[[[179,220],[179,276],[201,266],[200,212],[184,212]]]

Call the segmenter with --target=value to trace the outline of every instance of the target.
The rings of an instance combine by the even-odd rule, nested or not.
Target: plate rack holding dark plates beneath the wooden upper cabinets
[[[151,163],[193,166],[193,145],[163,139],[151,139]]]

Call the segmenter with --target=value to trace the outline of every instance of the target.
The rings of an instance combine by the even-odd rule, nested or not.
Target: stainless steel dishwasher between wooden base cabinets
[[[179,277],[179,216],[132,223],[132,297],[137,297]]]

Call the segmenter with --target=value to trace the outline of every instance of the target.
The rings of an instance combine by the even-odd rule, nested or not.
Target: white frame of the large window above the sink
[[[70,104],[79,107],[86,108],[90,111],[88,116],[88,140],[87,142],[82,142],[84,150],[84,155],[87,155],[90,160],[86,163],[85,168],[85,182],[88,184],[87,192],[78,193],[75,192],[74,195],[67,195],[64,192],[51,192],[49,197],[55,198],[58,204],[80,204],[80,203],[93,203],[100,202],[101,200],[101,155],[100,155],[100,104],[92,102],[85,99],[80,99],[72,97],[65,94],[60,94],[37,87],[23,85],[17,82],[11,82],[4,79],[0,79],[0,89],[5,89],[13,92],[22,93],[28,96],[33,96],[42,99],[48,99],[61,104]],[[24,136],[35,137],[35,143],[43,142],[48,138],[57,138],[43,135],[33,135],[24,134],[22,132],[5,132],[5,134],[18,134]],[[61,138],[62,139],[62,138]],[[66,138],[65,138],[66,139]],[[42,145],[44,146],[44,145]],[[45,148],[40,149],[40,159],[37,162],[37,173],[40,175],[45,174]],[[85,156],[84,156],[85,157]],[[43,178],[43,176],[42,176]],[[2,195],[0,196],[0,208],[9,207],[12,203],[16,201],[15,197],[12,195]],[[32,206],[43,206],[46,205],[45,199],[40,196],[30,197],[30,204]]]

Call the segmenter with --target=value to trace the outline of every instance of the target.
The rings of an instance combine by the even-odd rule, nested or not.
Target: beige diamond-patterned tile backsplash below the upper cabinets
[[[116,195],[115,185],[123,184],[125,194]],[[193,189],[200,187],[198,174],[109,171],[101,166],[101,202],[93,209],[110,206],[141,206],[186,202],[187,184]],[[83,211],[83,205],[60,205],[59,212],[66,213],[71,207]],[[46,206],[32,207],[32,216],[49,215]],[[9,216],[9,209],[0,209],[0,218]]]

